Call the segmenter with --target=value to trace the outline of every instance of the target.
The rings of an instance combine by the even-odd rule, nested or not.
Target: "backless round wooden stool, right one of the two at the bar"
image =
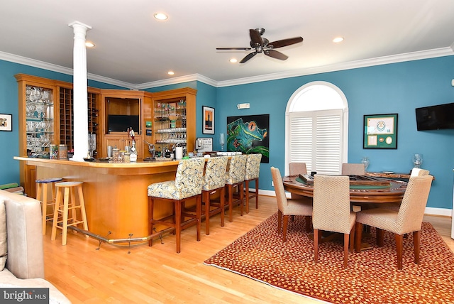
[[[84,193],[82,192],[83,182],[62,182],[56,183],[57,198],[55,199],[54,219],[52,224],[52,235],[50,239],[55,240],[57,228],[62,229],[62,245],[66,245],[68,226],[82,224],[84,230],[88,230],[87,214],[85,213]],[[77,200],[76,200],[77,190]],[[78,202],[78,204],[77,204]],[[77,219],[77,209],[80,209],[82,219]],[[71,210],[71,217],[68,212]],[[61,220],[59,219],[59,215]],[[68,222],[70,222],[68,224]],[[58,225],[61,223],[62,225]],[[86,236],[88,237],[88,236]]]

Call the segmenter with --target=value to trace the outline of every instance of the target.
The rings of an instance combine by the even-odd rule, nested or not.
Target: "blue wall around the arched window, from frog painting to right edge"
[[[216,134],[226,131],[226,117],[270,114],[270,163],[260,168],[260,189],[271,187],[270,167],[284,172],[285,109],[289,97],[313,81],[331,82],[348,100],[348,161],[370,158],[370,171],[409,173],[411,156],[423,153],[422,168],[431,171],[433,181],[428,207],[452,207],[454,130],[416,131],[415,108],[454,102],[454,56],[326,72],[284,80],[258,82],[217,89]],[[250,109],[236,109],[248,102]],[[363,115],[399,114],[397,149],[362,148]],[[220,148],[218,145],[214,148]]]

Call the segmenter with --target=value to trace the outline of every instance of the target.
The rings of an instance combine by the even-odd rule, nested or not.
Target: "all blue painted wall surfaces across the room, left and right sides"
[[[35,67],[0,60],[0,113],[13,114],[13,131],[0,132],[0,184],[18,182],[18,89],[14,75],[24,73],[55,80],[72,82],[65,75]],[[428,207],[450,209],[453,199],[454,130],[416,131],[414,109],[433,104],[454,102],[454,56],[362,67],[353,70],[326,72],[232,87],[212,87],[203,82],[184,82],[147,89],[159,92],[179,87],[197,89],[196,136],[213,137],[214,150],[218,134],[226,132],[227,116],[270,114],[270,163],[260,170],[260,189],[271,187],[270,167],[284,171],[284,114],[289,97],[302,85],[326,81],[339,87],[348,99],[349,138],[348,161],[358,163],[362,156],[370,158],[370,171],[391,170],[407,173],[412,167],[411,156],[423,153],[423,168],[431,170],[433,181]],[[113,85],[89,81],[89,86],[118,89]],[[248,102],[250,109],[238,110],[236,104]],[[214,136],[201,131],[201,107],[215,108]],[[378,150],[362,148],[362,119],[365,114],[399,114],[398,148]]]

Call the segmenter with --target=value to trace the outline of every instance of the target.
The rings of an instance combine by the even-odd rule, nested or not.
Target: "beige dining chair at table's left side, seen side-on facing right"
[[[271,167],[272,181],[275,183],[276,201],[277,201],[277,234],[281,233],[282,241],[287,241],[287,226],[290,215],[312,215],[312,204],[308,200],[287,200],[285,196],[284,183],[278,168]],[[282,219],[283,218],[283,219]],[[281,226],[281,222],[283,225]]]

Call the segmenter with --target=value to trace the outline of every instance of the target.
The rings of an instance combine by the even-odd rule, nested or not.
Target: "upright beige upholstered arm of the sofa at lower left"
[[[6,268],[17,278],[44,278],[40,202],[0,190],[5,201],[8,258]]]

